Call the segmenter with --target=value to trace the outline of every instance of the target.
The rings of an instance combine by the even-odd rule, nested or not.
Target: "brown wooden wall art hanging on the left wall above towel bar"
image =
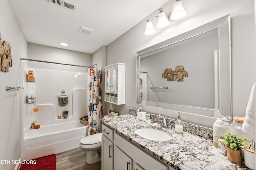
[[[12,66],[11,45],[8,41],[2,41],[0,32],[0,71],[9,72]]]

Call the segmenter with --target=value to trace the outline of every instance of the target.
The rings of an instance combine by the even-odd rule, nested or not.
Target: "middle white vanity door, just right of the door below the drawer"
[[[114,170],[132,170],[132,159],[114,146]]]

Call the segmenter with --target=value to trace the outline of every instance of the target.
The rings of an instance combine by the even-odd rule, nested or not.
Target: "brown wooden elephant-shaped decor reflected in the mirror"
[[[176,66],[174,70],[166,68],[162,73],[162,78],[166,78],[167,81],[183,82],[184,77],[188,77],[188,72],[184,70],[184,66]]]

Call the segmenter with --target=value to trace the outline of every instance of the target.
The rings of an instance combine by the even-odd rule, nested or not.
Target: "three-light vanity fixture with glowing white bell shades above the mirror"
[[[182,1],[181,0],[175,0],[174,4],[172,6],[172,11],[170,16],[167,15],[166,10],[164,8],[159,9],[158,16],[151,17],[147,20],[146,24],[146,30],[144,32],[145,35],[153,35],[156,33],[156,30],[154,29],[152,21],[150,21],[153,18],[158,18],[158,23],[156,27],[158,28],[164,28],[168,26],[172,21],[174,20],[180,20],[184,18],[187,15],[187,12],[185,11]]]

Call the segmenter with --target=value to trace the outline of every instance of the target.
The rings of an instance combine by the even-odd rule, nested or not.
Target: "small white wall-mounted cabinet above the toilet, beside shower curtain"
[[[124,63],[115,63],[104,67],[105,102],[125,104],[125,66]]]

